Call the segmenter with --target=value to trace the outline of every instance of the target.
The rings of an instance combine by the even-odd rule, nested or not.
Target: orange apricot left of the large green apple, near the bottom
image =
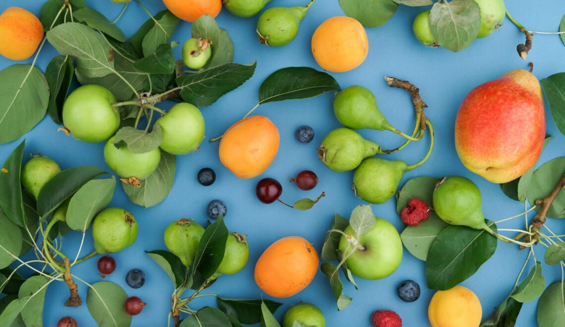
[[[318,253],[306,239],[284,237],[272,243],[257,260],[255,282],[272,297],[290,297],[310,284],[318,263]]]

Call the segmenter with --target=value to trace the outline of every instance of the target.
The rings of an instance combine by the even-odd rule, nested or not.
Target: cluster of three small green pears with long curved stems
[[[355,194],[370,203],[384,203],[396,193],[404,173],[423,164],[431,155],[434,135],[431,121],[426,120],[431,143],[420,162],[408,165],[401,160],[371,158],[377,154],[391,154],[403,149],[411,141],[419,141],[424,131],[420,129],[420,116],[416,118],[411,135],[393,127],[377,106],[375,95],[363,86],[350,86],[336,95],[333,101],[334,114],[345,126],[332,130],[321,142],[318,154],[321,162],[335,172],[355,169],[353,190]],[[385,150],[369,139],[360,136],[353,129],[389,130],[406,141],[396,149]]]

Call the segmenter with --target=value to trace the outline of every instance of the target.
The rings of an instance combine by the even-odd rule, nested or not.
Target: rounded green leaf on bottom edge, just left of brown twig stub
[[[18,297],[20,299],[32,297],[29,302],[21,309],[20,315],[26,326],[43,325],[43,308],[45,293],[47,292],[47,278],[44,276],[29,277],[20,287]]]

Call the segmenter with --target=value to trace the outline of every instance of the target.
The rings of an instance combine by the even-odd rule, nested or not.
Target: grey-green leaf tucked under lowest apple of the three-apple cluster
[[[161,161],[151,176],[140,181],[141,186],[136,188],[129,184],[121,184],[128,198],[138,206],[153,207],[162,202],[173,187],[175,181],[176,156],[161,151]]]

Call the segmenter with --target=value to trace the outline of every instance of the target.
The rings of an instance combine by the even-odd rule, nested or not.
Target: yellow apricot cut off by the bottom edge
[[[479,298],[467,287],[437,291],[429,302],[428,318],[432,327],[477,327],[482,316]]]

